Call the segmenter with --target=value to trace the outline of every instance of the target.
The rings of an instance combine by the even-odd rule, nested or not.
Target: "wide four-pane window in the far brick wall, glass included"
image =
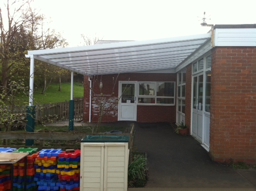
[[[139,82],[138,104],[174,105],[175,82]]]

